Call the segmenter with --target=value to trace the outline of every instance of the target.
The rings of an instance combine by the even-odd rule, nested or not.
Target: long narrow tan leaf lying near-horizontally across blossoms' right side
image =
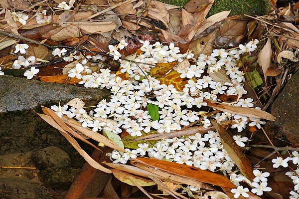
[[[271,121],[274,121],[276,119],[276,117],[274,117],[270,113],[267,113],[266,111],[249,108],[249,107],[232,106],[232,105],[228,105],[228,104],[213,102],[210,100],[204,100],[204,101],[207,103],[207,106],[217,109],[217,110],[220,110],[220,111],[223,111],[223,112],[228,112],[228,113],[237,114],[237,115],[243,115],[246,117],[261,118],[261,119],[266,119],[266,120],[271,120]]]

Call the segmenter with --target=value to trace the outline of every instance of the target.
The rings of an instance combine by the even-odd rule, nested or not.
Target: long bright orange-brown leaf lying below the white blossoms
[[[178,163],[172,163],[163,160],[155,160],[151,158],[137,158],[150,166],[159,168],[163,171],[167,171],[179,176],[183,176],[189,179],[197,180],[203,183],[209,183],[212,185],[220,186],[223,188],[234,189],[235,186],[224,176],[219,174],[201,170],[199,168],[182,165]]]

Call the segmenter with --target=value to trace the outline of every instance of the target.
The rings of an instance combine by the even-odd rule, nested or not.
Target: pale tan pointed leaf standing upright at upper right
[[[271,65],[271,57],[272,57],[271,39],[268,38],[267,43],[261,50],[258,58],[258,63],[262,67],[265,76],[268,68]]]

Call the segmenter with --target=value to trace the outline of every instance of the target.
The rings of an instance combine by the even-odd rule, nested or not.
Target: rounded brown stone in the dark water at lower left
[[[32,159],[38,169],[67,167],[71,164],[69,155],[55,146],[34,151]]]

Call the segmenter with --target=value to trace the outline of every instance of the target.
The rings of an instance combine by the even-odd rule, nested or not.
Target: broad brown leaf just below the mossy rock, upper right
[[[245,37],[247,20],[229,18],[219,27],[216,33],[215,45],[219,47],[235,47]]]

